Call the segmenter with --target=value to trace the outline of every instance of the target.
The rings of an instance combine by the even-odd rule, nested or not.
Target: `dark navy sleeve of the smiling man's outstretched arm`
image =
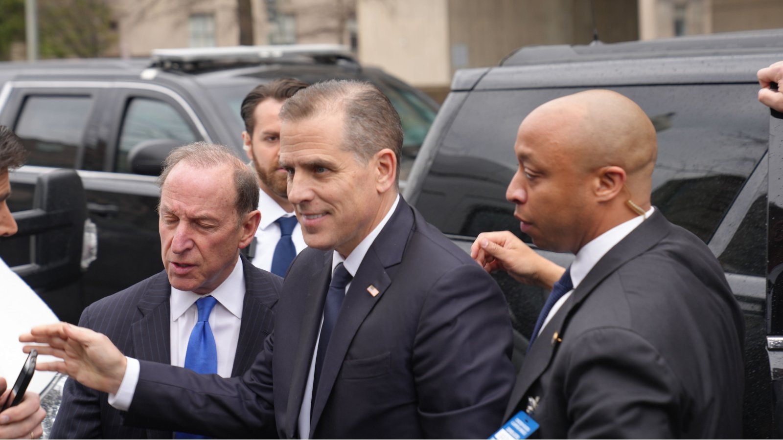
[[[244,376],[229,379],[139,361],[139,382],[125,424],[215,438],[276,437],[273,340],[274,332],[266,338],[251,369]]]

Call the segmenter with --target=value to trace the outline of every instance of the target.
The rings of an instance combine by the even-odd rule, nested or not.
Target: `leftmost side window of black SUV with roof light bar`
[[[91,105],[90,96],[28,96],[14,128],[30,152],[27,163],[78,168]]]

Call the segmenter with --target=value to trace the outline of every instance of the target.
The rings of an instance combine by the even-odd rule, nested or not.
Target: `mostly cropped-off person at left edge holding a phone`
[[[22,142],[8,127],[0,125],[0,236],[12,236],[16,233],[16,222],[5,204],[11,195],[9,170],[19,168],[24,164],[27,152]],[[0,259],[0,280],[5,280],[5,273],[14,276],[5,262]],[[19,280],[16,278],[16,280]],[[21,283],[21,281],[19,280]],[[0,299],[4,295],[13,294],[5,283],[0,285]],[[8,298],[5,298],[8,299]],[[5,301],[3,301],[5,302]],[[3,353],[2,355],[6,355]],[[0,406],[9,399],[11,393],[8,381],[13,377],[0,377]],[[46,412],[41,408],[38,394],[28,391],[19,405],[5,409],[0,413],[0,438],[38,438],[43,434],[41,421]]]

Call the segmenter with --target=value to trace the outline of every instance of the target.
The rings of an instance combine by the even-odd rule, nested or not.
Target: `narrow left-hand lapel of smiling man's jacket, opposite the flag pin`
[[[291,375],[291,386],[288,394],[288,408],[286,410],[288,415],[286,426],[288,438],[294,438],[297,430],[299,411],[302,399],[305,396],[305,386],[310,373],[312,352],[316,348],[316,338],[321,327],[323,302],[327,298],[331,280],[332,253],[324,253],[323,259],[321,269],[314,272],[309,280],[301,282],[302,289],[307,291],[307,296],[305,298],[305,312],[301,321],[296,361],[294,362],[294,373]],[[312,426],[315,426],[315,424],[312,424]]]

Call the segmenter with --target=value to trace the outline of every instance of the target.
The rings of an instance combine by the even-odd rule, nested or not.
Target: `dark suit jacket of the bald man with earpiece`
[[[655,211],[543,327],[506,418],[535,406],[541,438],[742,438],[744,332],[709,248]]]

